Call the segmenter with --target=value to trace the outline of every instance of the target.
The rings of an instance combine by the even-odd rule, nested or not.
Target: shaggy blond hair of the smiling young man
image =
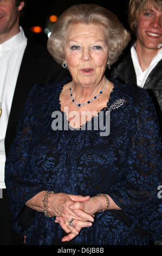
[[[162,11],[162,1],[161,0],[130,0],[128,8],[128,23],[132,32],[136,34],[137,20],[139,15],[145,11],[147,8],[153,7]]]

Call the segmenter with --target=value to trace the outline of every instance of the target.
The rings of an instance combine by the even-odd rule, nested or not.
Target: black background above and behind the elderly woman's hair
[[[107,0],[107,1],[64,1],[64,0],[27,0],[24,15],[21,17],[20,25],[23,27],[28,38],[42,44],[47,44],[48,36],[44,29],[49,25],[49,16],[59,16],[64,10],[74,4],[95,3],[111,10],[128,29],[127,25],[127,8],[129,0]],[[51,23],[52,24],[52,23]],[[42,33],[31,32],[32,26],[41,26]]]

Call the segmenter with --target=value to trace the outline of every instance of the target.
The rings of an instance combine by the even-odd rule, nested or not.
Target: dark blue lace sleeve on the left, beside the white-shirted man
[[[35,126],[37,87],[34,86],[29,94],[5,164],[5,184],[10,200],[12,222],[17,231],[22,231],[18,216],[24,204],[43,190],[40,184],[35,182],[28,161]]]

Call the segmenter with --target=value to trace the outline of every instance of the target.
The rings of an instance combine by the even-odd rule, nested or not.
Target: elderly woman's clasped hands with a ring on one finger
[[[49,202],[49,211],[56,216],[56,223],[69,233],[62,238],[62,241],[74,239],[84,227],[92,226],[94,221],[94,209],[92,198],[89,196],[75,196],[72,194],[59,193],[53,195]],[[52,209],[55,209],[54,211]],[[73,219],[73,225],[69,222]]]

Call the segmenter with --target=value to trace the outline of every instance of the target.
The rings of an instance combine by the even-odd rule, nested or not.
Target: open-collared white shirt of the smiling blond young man
[[[137,77],[137,86],[143,88],[148,75],[153,70],[153,68],[158,64],[158,62],[162,59],[162,49],[158,51],[157,55],[152,59],[150,66],[148,66],[148,68],[144,72],[141,70],[137,52],[135,51],[134,45],[131,47],[131,57],[135,69],[135,74]]]

